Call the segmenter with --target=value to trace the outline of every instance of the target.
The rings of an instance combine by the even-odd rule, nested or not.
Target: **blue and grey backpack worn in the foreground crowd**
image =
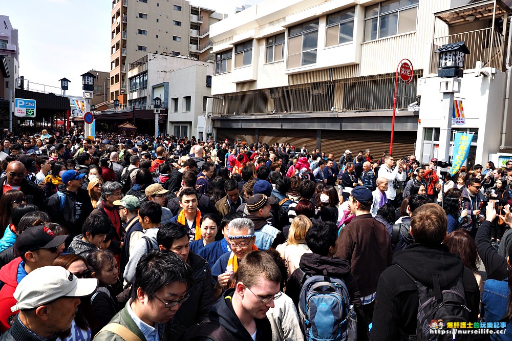
[[[302,270],[301,270],[302,271]],[[298,301],[306,340],[355,341],[357,317],[345,283],[327,275],[303,275]]]

